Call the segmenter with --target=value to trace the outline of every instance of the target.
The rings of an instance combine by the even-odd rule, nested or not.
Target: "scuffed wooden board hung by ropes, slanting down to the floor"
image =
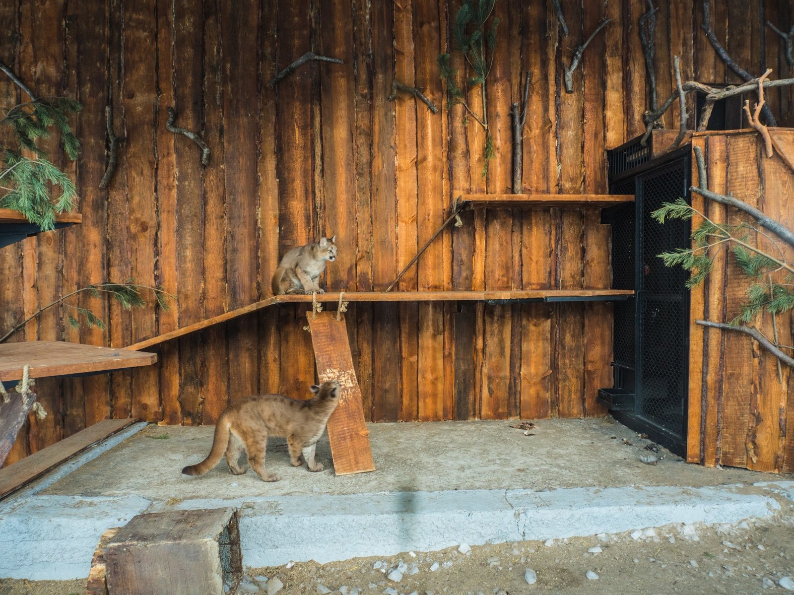
[[[361,389],[353,356],[350,354],[345,317],[336,319],[332,312],[312,315],[306,312],[314,346],[314,360],[321,382],[336,380],[341,384],[339,404],[328,420],[333,470],[337,475],[367,473],[375,470],[369,430],[364,422]]]

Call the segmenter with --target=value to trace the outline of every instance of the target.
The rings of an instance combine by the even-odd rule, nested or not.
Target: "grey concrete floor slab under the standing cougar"
[[[210,451],[212,427],[149,426],[58,481],[42,494],[128,496],[148,500],[245,499],[256,496],[440,492],[471,489],[693,486],[780,481],[772,473],[708,469],[662,450],[657,466],[633,431],[610,418],[544,419],[525,436],[506,421],[369,424],[375,473],[336,477],[327,435],[318,442],[322,473],[289,464],[284,439],[268,441],[268,470],[281,481],[265,483],[249,470],[234,476],[222,461],[201,477],[183,466]],[[615,436],[616,438],[612,438]],[[623,439],[631,442],[626,446]]]

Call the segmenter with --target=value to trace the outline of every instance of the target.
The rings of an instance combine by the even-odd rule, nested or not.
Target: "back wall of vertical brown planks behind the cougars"
[[[784,48],[761,25],[788,26],[787,2],[711,3],[715,32],[740,64],[788,75]],[[441,224],[453,189],[509,191],[509,107],[527,70],[524,187],[607,191],[604,150],[643,129],[646,3],[564,0],[565,37],[550,0],[497,0],[487,82],[495,157],[485,177],[484,131],[462,106],[447,105],[437,71],[438,54],[453,50],[459,4],[0,2],[0,30],[10,32],[0,36],[0,59],[38,94],[84,106],[83,153],[70,170],[83,224],[0,251],[0,327],[88,283],[164,284],[178,299],[168,312],[84,295],[79,305],[106,331],[74,330],[67,310],[53,308],[13,338],[126,346],[267,296],[279,254],[322,234],[337,234],[340,247],[328,287],[384,289]],[[703,36],[700,2],[658,4],[660,98],[673,89],[673,55],[685,78],[736,80]],[[575,92],[565,93],[563,61],[607,17],[574,74]],[[312,62],[268,86],[310,50],[344,64]],[[459,53],[453,65],[466,74]],[[422,89],[439,113],[410,95],[390,100],[395,77]],[[768,96],[784,125],[788,91]],[[472,93],[472,109],[479,98]],[[0,77],[0,105],[21,99]],[[100,190],[107,105],[126,140],[110,188]],[[178,126],[210,145],[206,168],[198,147],[165,129],[168,106]],[[676,118],[671,110],[665,125]],[[399,288],[603,288],[609,253],[596,211],[468,212]],[[305,309],[273,307],[166,343],[151,369],[40,382],[51,415],[30,421],[12,459],[106,417],[214,423],[229,400],[252,392],[306,394],[314,361]],[[609,305],[357,304],[347,319],[368,419],[603,414],[595,389],[611,382]]]

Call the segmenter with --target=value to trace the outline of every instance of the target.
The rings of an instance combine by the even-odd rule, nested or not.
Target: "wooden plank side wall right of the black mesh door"
[[[794,148],[794,130],[778,131]],[[695,137],[703,149],[709,189],[732,194],[789,228],[794,224],[794,171],[779,154],[765,156],[755,132]],[[788,155],[792,159],[794,151]],[[693,159],[692,180],[698,180]],[[692,196],[692,206],[716,223],[746,221],[746,216],[719,203]],[[701,219],[693,219],[692,225]],[[767,253],[777,250],[753,234],[753,245]],[[786,247],[792,261],[792,249]],[[778,280],[779,281],[779,280]],[[692,290],[689,334],[689,435],[687,458],[707,466],[728,465],[759,471],[794,471],[794,381],[792,369],[738,332],[706,329],[696,319],[730,322],[742,311],[753,281],[723,250],[705,283]],[[792,314],[759,314],[751,326],[765,336],[791,346]],[[788,353],[788,352],[787,352]]]

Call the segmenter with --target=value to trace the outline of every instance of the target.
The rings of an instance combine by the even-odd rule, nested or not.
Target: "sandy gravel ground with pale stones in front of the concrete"
[[[474,546],[467,554],[450,547],[387,558],[354,558],[322,566],[305,562],[290,568],[249,569],[239,593],[264,595],[268,593],[268,583],[275,585],[274,579],[278,578],[283,582],[278,593],[284,595],[782,595],[789,592],[784,586],[785,578],[794,578],[791,508],[784,520],[778,517],[773,521],[712,527],[668,525],[638,533],[641,532],[551,543]],[[388,578],[393,570],[401,568],[403,576],[399,581]],[[527,569],[537,576],[534,585],[526,581]],[[595,573],[590,574],[593,578],[588,578],[588,571]],[[399,577],[391,574],[391,578]],[[318,585],[329,590],[318,589]],[[2,595],[69,595],[84,593],[84,589],[85,581],[0,579]],[[791,589],[794,592],[794,581]]]

